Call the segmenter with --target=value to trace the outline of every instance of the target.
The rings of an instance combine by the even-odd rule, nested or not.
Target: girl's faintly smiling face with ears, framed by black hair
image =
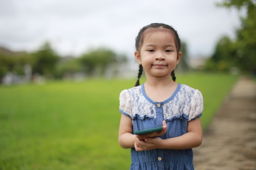
[[[173,35],[167,30],[147,33],[135,57],[145,74],[153,77],[168,76],[180,62],[182,53],[177,52]]]

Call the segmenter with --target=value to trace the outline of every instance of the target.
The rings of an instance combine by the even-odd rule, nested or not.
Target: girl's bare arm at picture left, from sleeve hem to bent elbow
[[[124,114],[121,114],[118,141],[122,148],[134,148],[135,135],[132,130],[132,119]]]

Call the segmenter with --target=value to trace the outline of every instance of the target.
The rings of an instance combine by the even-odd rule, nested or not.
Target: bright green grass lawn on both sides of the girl
[[[202,92],[204,129],[237,79],[204,73],[176,77]],[[135,81],[0,86],[0,170],[128,169],[130,150],[121,148],[117,137],[119,93]]]

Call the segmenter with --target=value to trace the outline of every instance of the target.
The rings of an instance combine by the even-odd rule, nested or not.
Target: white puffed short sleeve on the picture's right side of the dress
[[[195,90],[193,97],[191,98],[191,109],[189,111],[189,120],[196,119],[202,115],[204,110],[204,100],[202,93],[198,90]]]

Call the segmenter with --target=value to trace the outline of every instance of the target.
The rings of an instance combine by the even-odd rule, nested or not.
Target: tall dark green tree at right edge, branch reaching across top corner
[[[243,71],[256,71],[256,0],[224,0],[221,7],[235,7],[247,10],[241,17],[241,28],[236,31],[236,57],[239,68]]]

